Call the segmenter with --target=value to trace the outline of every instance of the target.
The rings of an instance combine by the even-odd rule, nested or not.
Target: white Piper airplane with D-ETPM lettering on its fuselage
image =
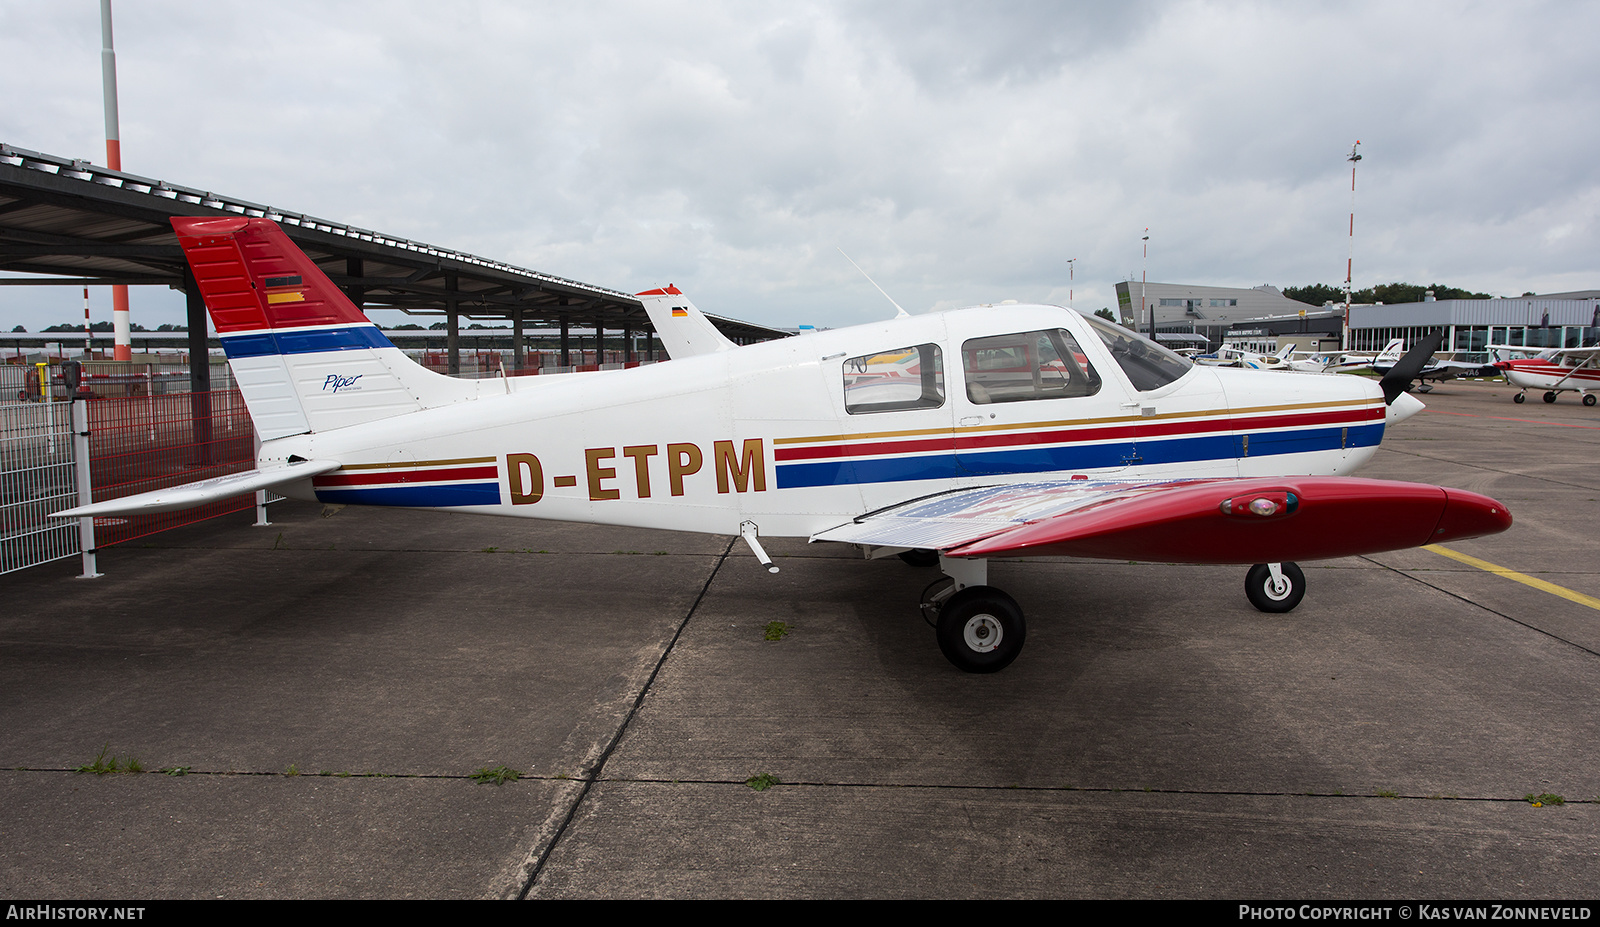
[[[734,346],[675,287],[640,293],[672,360],[454,379],[406,359],[269,219],[176,218],[261,437],[256,469],[61,516],[286,496],[859,544],[936,562],[922,604],[958,668],[1016,658],[990,557],[1254,564],[1502,532],[1475,493],[1347,477],[1422,408],[1408,381],[1195,367],[1059,306],[976,307]],[[1419,367],[1408,357],[1397,367]],[[1382,525],[1373,530],[1373,525]]]

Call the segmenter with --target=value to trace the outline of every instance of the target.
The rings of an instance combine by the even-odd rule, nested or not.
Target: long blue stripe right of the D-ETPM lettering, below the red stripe
[[[1122,466],[1152,466],[1275,456],[1374,447],[1382,440],[1382,423],[1267,431],[1250,434],[1203,434],[1064,447],[931,453],[920,456],[832,459],[822,463],[778,464],[778,488],[830,487],[842,484],[888,484],[901,480],[952,479],[962,476],[1030,474],[1050,471],[1094,471]]]

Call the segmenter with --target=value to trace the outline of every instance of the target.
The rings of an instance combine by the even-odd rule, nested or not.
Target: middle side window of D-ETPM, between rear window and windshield
[[[978,405],[1094,395],[1101,379],[1070,331],[1019,331],[962,344],[966,399]]]

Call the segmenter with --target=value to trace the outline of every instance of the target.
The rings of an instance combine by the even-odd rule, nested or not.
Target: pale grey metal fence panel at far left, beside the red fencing
[[[66,402],[0,405],[0,573],[78,552],[72,416]]]

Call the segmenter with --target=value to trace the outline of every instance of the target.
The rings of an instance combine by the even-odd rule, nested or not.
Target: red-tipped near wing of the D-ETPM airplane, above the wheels
[[[952,557],[1274,564],[1397,551],[1509,527],[1510,512],[1498,501],[1426,484],[1056,480],[912,500],[811,540],[928,548]]]

